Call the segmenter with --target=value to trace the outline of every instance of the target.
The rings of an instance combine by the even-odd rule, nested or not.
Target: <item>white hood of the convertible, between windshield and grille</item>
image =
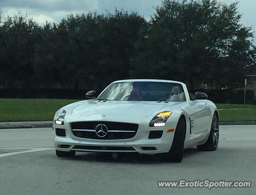
[[[126,115],[147,117],[156,111],[167,111],[169,106],[181,102],[139,102],[139,101],[85,101],[76,106],[71,115]]]

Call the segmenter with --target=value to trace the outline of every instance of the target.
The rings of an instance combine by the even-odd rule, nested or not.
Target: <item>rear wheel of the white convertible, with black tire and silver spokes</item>
[[[205,144],[197,145],[197,150],[215,151],[218,147],[218,144],[219,144],[219,118],[217,113],[214,113],[209,137]]]

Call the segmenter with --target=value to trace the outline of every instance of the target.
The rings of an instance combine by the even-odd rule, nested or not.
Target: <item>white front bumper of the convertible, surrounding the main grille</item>
[[[110,121],[110,120],[106,120]],[[113,121],[113,120],[112,120]],[[124,120],[115,120],[116,122],[130,122]],[[76,137],[71,130],[71,123],[75,121],[65,121],[63,125],[54,124],[55,128],[65,129],[66,136],[54,136],[54,146],[56,150],[60,151],[77,151],[77,152],[139,152],[141,154],[158,154],[166,153],[170,150],[174,138],[174,132],[167,132],[168,129],[175,129],[176,121],[167,121],[165,127],[149,127],[148,122],[135,121],[139,124],[139,128],[135,137],[130,139],[115,139],[115,140],[99,140],[99,139],[85,139]],[[148,139],[150,131],[163,130],[163,135],[159,139]],[[62,145],[65,145],[64,148]],[[89,149],[79,146],[91,146]],[[101,147],[100,150],[97,147]],[[109,148],[113,148],[109,150]],[[132,147],[133,150],[122,150],[121,147]],[[145,150],[143,147],[148,147]],[[78,149],[79,148],[79,149]],[[82,148],[82,149],[81,149]],[[116,149],[118,148],[118,150]]]

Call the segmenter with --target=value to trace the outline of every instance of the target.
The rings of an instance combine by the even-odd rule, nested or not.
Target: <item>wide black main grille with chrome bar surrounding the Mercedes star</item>
[[[105,137],[99,137],[95,128],[99,124],[104,124],[108,128]],[[112,121],[84,121],[71,124],[72,132],[76,137],[86,139],[130,139],[135,137],[139,128],[138,124],[121,123]]]

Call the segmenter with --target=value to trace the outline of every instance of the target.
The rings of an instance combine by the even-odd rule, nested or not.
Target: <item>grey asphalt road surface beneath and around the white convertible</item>
[[[0,195],[256,195],[256,126],[221,126],[215,152],[161,155],[77,153],[57,158],[51,128],[0,130]],[[251,188],[158,188],[157,181],[251,181]]]

